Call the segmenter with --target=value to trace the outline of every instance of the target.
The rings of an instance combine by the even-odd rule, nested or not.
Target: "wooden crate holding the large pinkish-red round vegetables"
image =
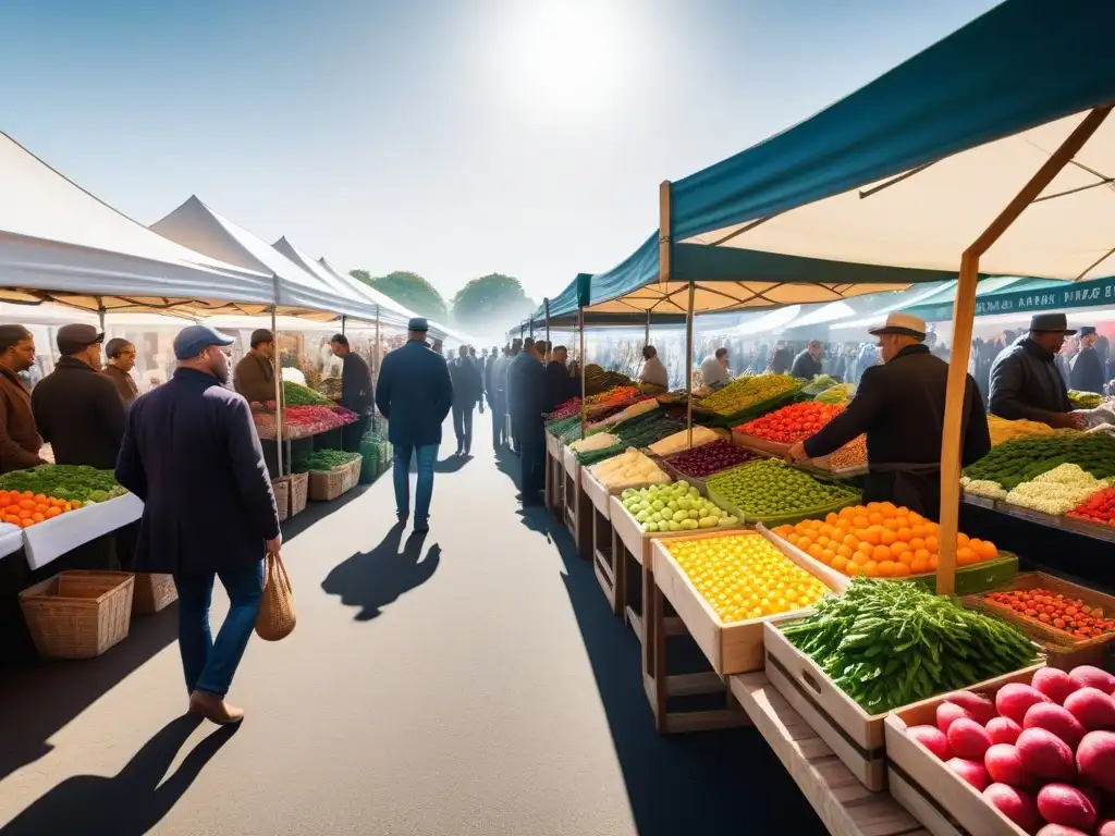
[[[992,694],[1008,682],[1029,683],[1037,664],[1016,673],[973,686],[972,691]],[[906,735],[911,726],[934,723],[937,707],[942,697],[892,711],[886,717],[886,757],[890,774],[898,780],[891,784],[891,795],[935,836],[957,836],[964,832],[972,836],[1025,836],[1025,832],[1000,815],[983,797],[944,762]]]

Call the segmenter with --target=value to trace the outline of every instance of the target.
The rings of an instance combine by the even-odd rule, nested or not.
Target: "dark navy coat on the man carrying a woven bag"
[[[251,565],[279,536],[248,401],[205,372],[178,369],[132,405],[116,479],[144,502],[137,572]]]

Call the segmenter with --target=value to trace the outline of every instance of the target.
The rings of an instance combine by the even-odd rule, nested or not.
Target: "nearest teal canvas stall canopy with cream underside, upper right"
[[[954,270],[1080,123],[1115,100],[1115,3],[1007,0],[816,116],[673,184],[680,246]],[[1115,119],[982,256],[1109,274]]]

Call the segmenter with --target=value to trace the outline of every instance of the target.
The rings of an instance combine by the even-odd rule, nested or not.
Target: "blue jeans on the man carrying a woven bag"
[[[216,577],[229,593],[230,606],[214,642],[209,611]],[[178,650],[186,689],[223,697],[255,629],[263,596],[263,561],[217,573],[175,575],[174,585],[178,589]]]

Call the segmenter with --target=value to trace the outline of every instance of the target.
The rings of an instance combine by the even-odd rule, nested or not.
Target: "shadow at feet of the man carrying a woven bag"
[[[99,775],[67,778],[0,828],[0,835],[140,836],[149,833],[239,728],[239,725],[224,726],[214,731],[163,781],[178,749],[201,722],[197,715],[172,720],[112,778]]]

